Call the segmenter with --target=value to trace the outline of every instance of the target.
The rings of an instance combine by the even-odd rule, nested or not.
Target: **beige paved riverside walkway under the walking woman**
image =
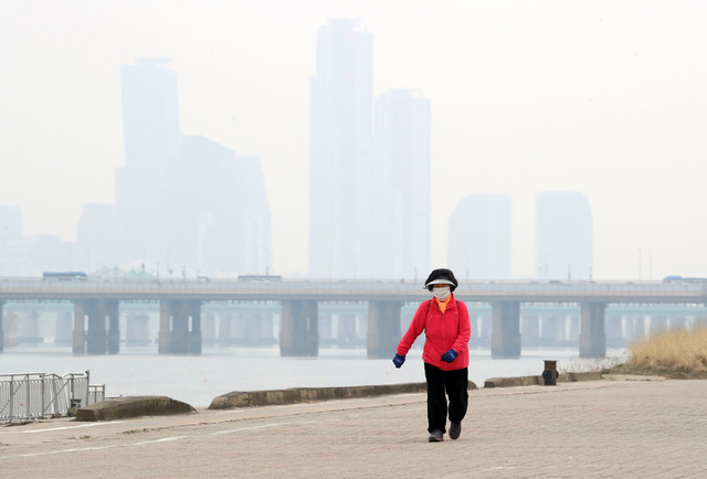
[[[424,394],[0,427],[2,477],[707,477],[707,381],[469,392],[458,440]]]

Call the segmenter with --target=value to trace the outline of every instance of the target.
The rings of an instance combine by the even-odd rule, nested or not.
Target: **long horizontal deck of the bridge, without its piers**
[[[707,281],[588,281],[588,280],[461,280],[455,295],[466,300],[521,298],[528,301],[558,299],[611,302],[704,302]],[[114,299],[156,300],[191,297],[203,300],[361,300],[398,298],[416,301],[429,296],[421,280],[283,278],[277,281],[217,278],[183,279],[113,278],[44,281],[34,278],[0,278],[0,300]]]

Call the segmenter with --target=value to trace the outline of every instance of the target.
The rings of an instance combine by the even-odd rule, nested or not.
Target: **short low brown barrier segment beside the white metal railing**
[[[110,421],[138,416],[196,413],[192,406],[167,396],[114,397],[76,409],[76,421]]]

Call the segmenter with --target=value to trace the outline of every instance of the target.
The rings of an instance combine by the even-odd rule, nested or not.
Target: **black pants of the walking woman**
[[[446,395],[450,396],[450,421],[461,423],[468,406],[468,368],[442,371],[424,363],[428,380],[428,432],[440,429],[446,433]]]

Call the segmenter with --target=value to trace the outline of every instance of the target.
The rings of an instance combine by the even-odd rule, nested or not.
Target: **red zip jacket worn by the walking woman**
[[[437,301],[430,299],[418,307],[408,332],[398,344],[398,354],[405,355],[415,339],[424,331],[425,341],[422,360],[443,371],[468,368],[468,340],[472,327],[468,322],[468,309],[452,295],[444,313]],[[451,363],[442,361],[442,354],[454,349],[458,355]]]

